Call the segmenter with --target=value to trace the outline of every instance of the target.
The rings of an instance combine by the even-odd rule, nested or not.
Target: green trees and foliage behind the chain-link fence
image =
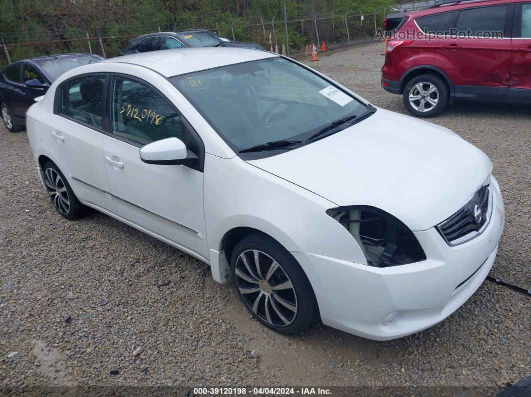
[[[290,48],[300,50],[316,41],[311,21],[315,14],[335,15],[333,23],[318,21],[321,41],[345,41],[345,13],[373,13],[376,9],[380,13],[377,23],[381,24],[383,11],[391,3],[391,0],[286,0],[288,21],[301,17],[310,20],[288,23]],[[355,17],[348,23],[349,32],[371,31],[365,25],[366,31],[358,28]],[[370,23],[374,26],[374,21],[369,21],[367,27]],[[159,28],[219,30],[229,39],[234,31],[236,40],[257,42],[266,49],[270,46],[270,33],[275,47],[276,33],[281,48],[285,43],[284,0],[0,0],[0,32],[4,42],[31,43],[7,47],[12,61],[58,52],[88,52],[87,33],[92,38],[92,51],[99,54],[102,51],[98,35],[116,37],[103,40],[106,55],[115,56],[117,48],[125,42]],[[39,43],[43,41],[48,42]],[[6,63],[4,48],[0,47],[0,66]]]

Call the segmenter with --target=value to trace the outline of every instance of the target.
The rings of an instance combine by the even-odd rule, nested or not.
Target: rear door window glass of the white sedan
[[[59,113],[101,128],[105,76],[70,80],[59,87]]]

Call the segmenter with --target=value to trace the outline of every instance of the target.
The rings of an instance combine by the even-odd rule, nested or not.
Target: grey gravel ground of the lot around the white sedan
[[[353,48],[311,66],[406,113],[400,96],[380,88],[380,50]],[[529,106],[456,103],[431,120],[492,159],[507,220],[491,275],[526,288],[530,116]],[[27,135],[2,126],[0,142],[4,394],[36,385],[499,388],[531,375],[531,301],[523,294],[485,282],[449,319],[399,340],[369,341],[321,324],[281,336],[252,320],[233,288],[189,255],[96,212],[63,219],[37,179]]]

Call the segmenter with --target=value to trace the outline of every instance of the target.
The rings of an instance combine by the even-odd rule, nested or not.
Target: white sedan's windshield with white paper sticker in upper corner
[[[333,129],[332,123],[367,116],[367,107],[352,95],[280,57],[176,76],[170,82],[236,152],[281,140],[300,146]],[[278,147],[286,149],[287,144]],[[268,150],[265,155],[272,154]]]

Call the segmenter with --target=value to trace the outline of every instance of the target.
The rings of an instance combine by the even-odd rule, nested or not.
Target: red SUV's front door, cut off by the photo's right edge
[[[508,102],[531,102],[531,2],[516,4]]]

